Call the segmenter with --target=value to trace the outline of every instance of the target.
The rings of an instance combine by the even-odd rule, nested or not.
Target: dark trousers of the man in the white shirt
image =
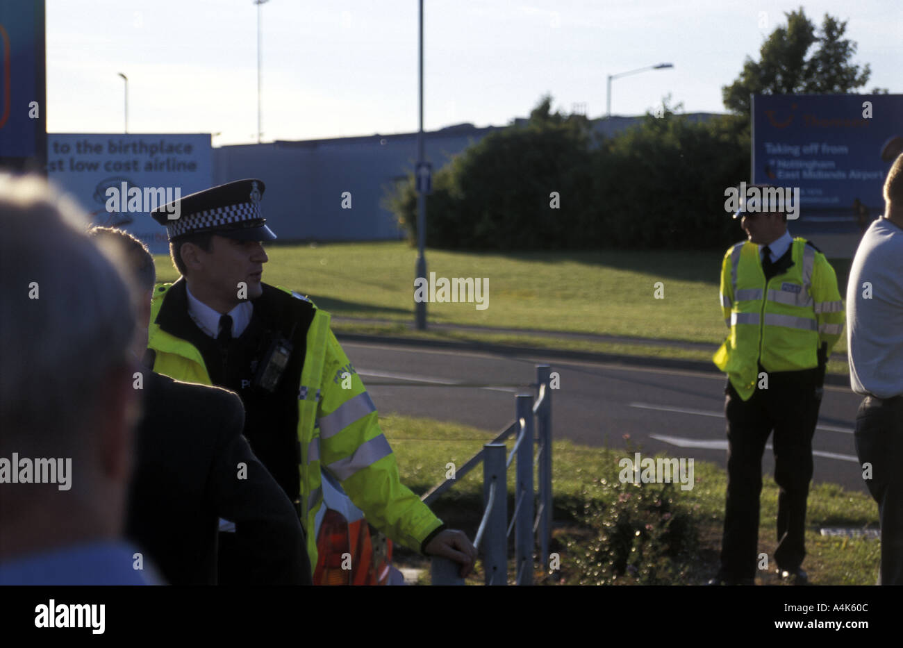
[[[879,584],[903,585],[903,396],[866,396],[856,414],[856,455],[871,464],[865,480],[881,523]],[[863,474],[865,474],[863,468]]]

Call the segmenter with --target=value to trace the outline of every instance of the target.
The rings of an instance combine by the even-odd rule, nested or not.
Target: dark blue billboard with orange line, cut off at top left
[[[0,3],[0,167],[42,171],[46,153],[43,0]]]

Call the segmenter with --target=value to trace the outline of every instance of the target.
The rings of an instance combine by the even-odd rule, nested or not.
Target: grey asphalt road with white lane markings
[[[644,455],[665,452],[725,467],[721,374],[358,342],[342,347],[383,413],[502,430],[514,419],[517,385],[534,382],[535,365],[545,363],[560,375],[553,397],[557,438],[623,448],[622,437],[629,434]],[[386,384],[399,381],[416,385]],[[455,383],[505,386],[444,386]],[[814,480],[867,492],[852,436],[861,398],[848,388],[828,386],[824,392]],[[762,468],[774,472],[770,443]]]

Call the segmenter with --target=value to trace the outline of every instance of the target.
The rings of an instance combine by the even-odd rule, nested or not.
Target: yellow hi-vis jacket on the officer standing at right
[[[831,264],[814,245],[796,237],[793,264],[766,282],[759,245],[734,245],[721,264],[721,310],[731,329],[712,358],[740,398],[756,390],[759,363],[766,372],[818,366],[843,332],[843,301]]]

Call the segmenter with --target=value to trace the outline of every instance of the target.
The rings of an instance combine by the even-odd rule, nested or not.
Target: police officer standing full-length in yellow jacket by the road
[[[721,264],[730,334],[713,359],[728,375],[728,487],[721,569],[710,584],[754,584],[762,454],[774,430],[777,575],[804,585],[812,437],[843,303],[831,264],[815,245],[790,236],[783,205],[765,199],[772,188],[749,189],[763,199],[744,201],[734,214],[749,240],[733,245]]]

